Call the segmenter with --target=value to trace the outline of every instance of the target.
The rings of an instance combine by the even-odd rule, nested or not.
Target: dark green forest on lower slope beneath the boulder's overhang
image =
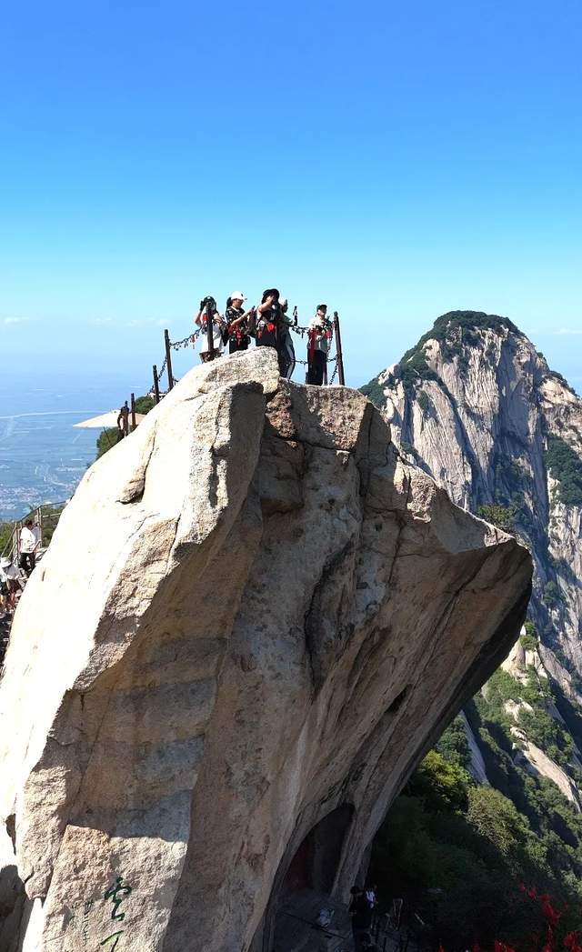
[[[432,942],[528,952],[545,922],[528,890],[551,897],[564,933],[582,926],[582,818],[552,782],[513,763],[501,699],[518,685],[499,684],[498,674],[470,712],[494,786],[472,781],[456,718],[393,803],[373,844],[371,880],[387,905],[404,899],[404,921],[418,933],[419,916]]]

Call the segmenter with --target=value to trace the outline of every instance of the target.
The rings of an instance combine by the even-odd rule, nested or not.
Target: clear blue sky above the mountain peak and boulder
[[[276,285],[340,311],[353,385],[460,307],[582,389],[581,35],[578,0],[9,0],[3,367],[133,386]]]

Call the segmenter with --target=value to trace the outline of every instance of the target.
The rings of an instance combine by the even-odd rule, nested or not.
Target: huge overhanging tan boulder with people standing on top
[[[346,895],[531,567],[362,395],[266,348],[191,371],[91,466],[17,611],[2,948],[271,952],[286,890]]]

